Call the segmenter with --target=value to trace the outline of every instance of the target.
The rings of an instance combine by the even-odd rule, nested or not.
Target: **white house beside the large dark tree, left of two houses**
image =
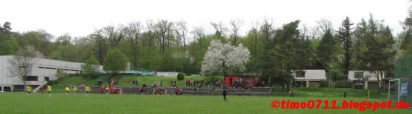
[[[320,62],[302,70],[293,71],[295,86],[321,87],[321,82],[326,80],[326,69]]]

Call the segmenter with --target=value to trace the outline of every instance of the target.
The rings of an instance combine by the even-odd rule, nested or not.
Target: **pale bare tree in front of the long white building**
[[[16,52],[12,59],[9,60],[11,66],[8,67],[10,75],[16,76],[23,81],[24,89],[26,89],[27,75],[32,71],[32,66],[35,62],[34,58],[43,58],[43,54],[38,52],[32,45],[27,45],[23,49]]]

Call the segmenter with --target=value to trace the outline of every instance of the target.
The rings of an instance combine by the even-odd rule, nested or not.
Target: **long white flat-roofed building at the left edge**
[[[23,81],[18,76],[12,76],[9,67],[13,56],[0,56],[0,91],[21,90],[24,88]],[[26,84],[38,87],[48,80],[56,80],[56,69],[62,69],[63,73],[80,73],[83,63],[67,62],[61,60],[50,60],[34,58],[31,71],[27,74]]]

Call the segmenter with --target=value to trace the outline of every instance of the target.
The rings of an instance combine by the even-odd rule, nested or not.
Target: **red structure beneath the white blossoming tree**
[[[226,87],[241,87],[244,86],[252,86],[255,87],[256,79],[254,76],[226,76],[225,77],[225,86]]]

